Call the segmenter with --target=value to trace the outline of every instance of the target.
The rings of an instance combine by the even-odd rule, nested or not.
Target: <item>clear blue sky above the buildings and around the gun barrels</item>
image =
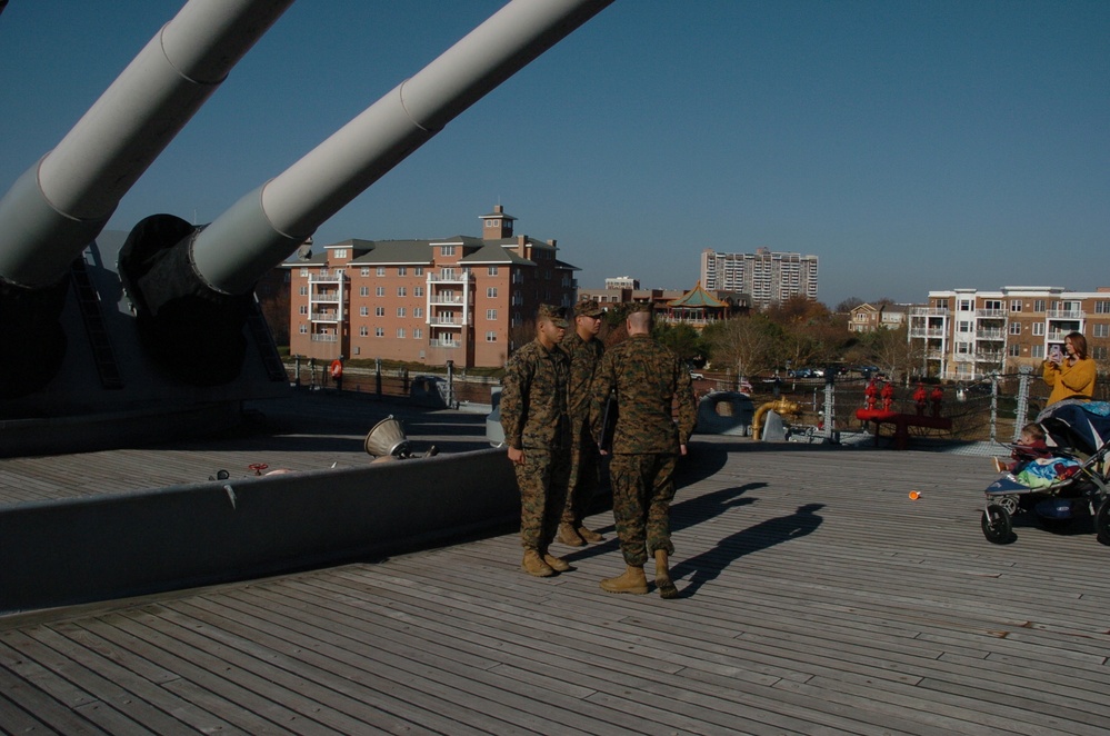
[[[0,191],[182,4],[9,2]],[[502,4],[294,3],[109,227],[211,221]],[[617,0],[316,239],[480,235],[498,202],[586,288],[758,247],[819,256],[829,306],[1110,286],[1110,2]]]

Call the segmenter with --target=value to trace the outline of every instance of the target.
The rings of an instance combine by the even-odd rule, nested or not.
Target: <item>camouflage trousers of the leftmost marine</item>
[[[544,553],[559,528],[567,499],[569,450],[524,450],[523,465],[516,466],[520,487],[520,543],[524,549]]]

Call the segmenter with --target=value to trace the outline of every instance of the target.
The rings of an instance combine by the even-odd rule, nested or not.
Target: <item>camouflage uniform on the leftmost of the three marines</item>
[[[570,359],[559,347],[533,340],[506,366],[501,428],[509,447],[524,450],[513,466],[520,487],[520,540],[526,550],[547,553],[562,515],[570,473],[567,381]]]

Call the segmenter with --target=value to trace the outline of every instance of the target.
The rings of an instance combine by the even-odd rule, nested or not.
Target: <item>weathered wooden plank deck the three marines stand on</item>
[[[446,441],[453,414],[427,415]],[[343,431],[274,464],[362,461]],[[268,459],[194,449],[174,473]],[[92,478],[92,460],[69,473]],[[598,588],[622,568],[602,511],[607,541],[557,547],[576,569],[549,579],[520,571],[506,533],[12,616],[0,730],[1103,734],[1110,548],[1031,526],[988,544],[992,478],[982,457],[696,436],[677,600]]]

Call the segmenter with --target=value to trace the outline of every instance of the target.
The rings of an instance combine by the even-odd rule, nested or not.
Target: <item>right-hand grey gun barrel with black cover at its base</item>
[[[211,225],[140,222],[120,278],[140,340],[194,385],[234,378],[252,289],[324,220],[612,0],[513,0]]]

